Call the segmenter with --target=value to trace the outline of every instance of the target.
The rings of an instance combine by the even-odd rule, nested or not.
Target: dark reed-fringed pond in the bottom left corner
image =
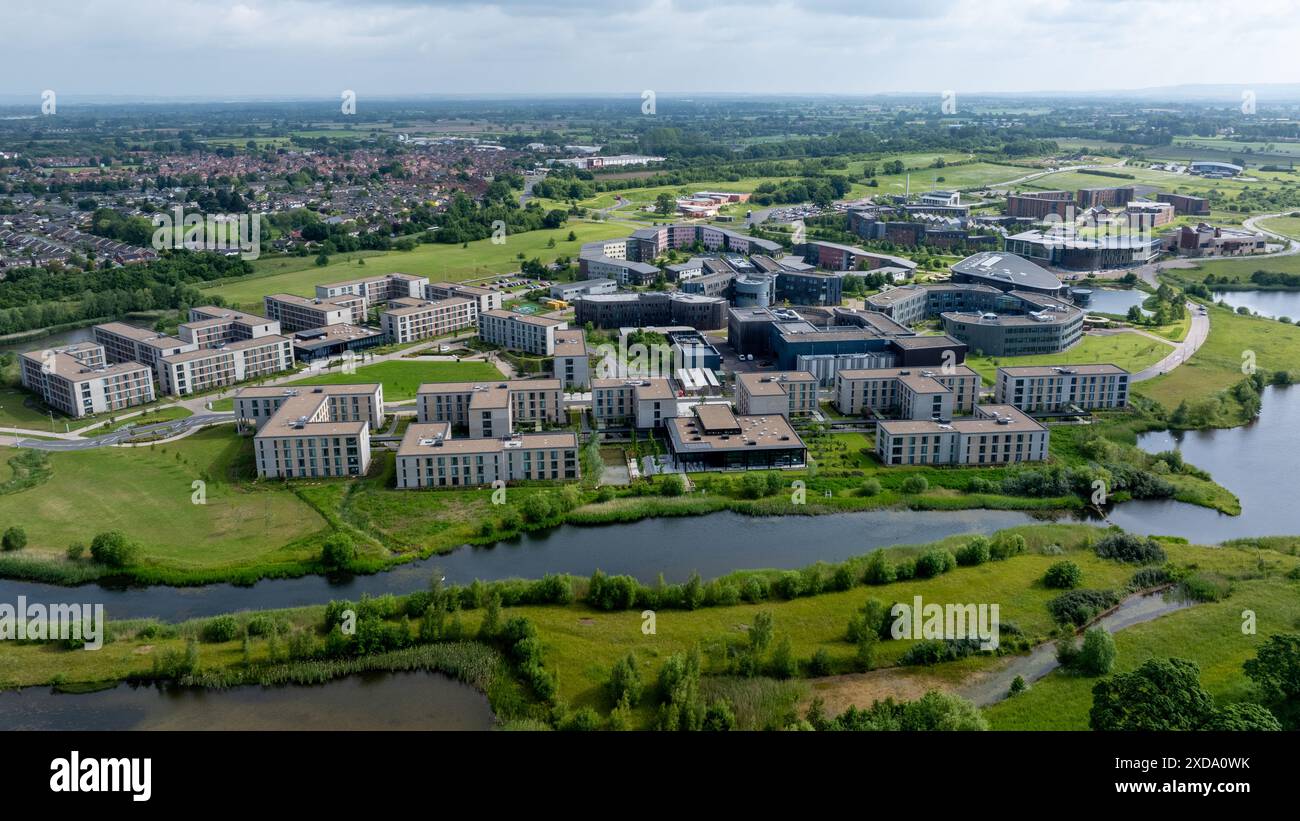
[[[493,721],[488,696],[437,673],[291,687],[0,692],[0,730],[489,730]]]

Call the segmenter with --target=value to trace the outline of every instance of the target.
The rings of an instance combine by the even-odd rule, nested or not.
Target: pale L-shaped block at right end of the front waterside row
[[[1048,457],[1048,429],[1010,405],[975,405],[967,418],[876,425],[884,465],[1006,465]]]

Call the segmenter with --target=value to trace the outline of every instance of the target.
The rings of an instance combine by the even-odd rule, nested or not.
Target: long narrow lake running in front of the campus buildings
[[[304,575],[252,586],[75,588],[0,579],[0,601],[103,603],[109,618],[153,616],[183,621],[246,609],[274,609],[358,599],[361,594],[424,590],[434,574],[448,583],[541,578],[547,573],[589,575],[601,569],[653,583],[662,573],[682,582],[737,569],[802,568],[840,561],[890,544],[922,544],[962,533],[989,534],[1036,521],[1019,511],[872,511],[835,516],[750,517],[712,513],[647,518],[628,525],[566,525],[491,547],[463,547],[445,556],[399,565],[385,573],[328,579]]]

